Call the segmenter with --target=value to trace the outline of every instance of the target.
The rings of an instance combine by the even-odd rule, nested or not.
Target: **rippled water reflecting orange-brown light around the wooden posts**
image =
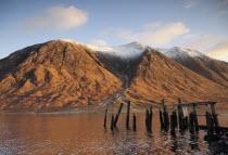
[[[228,126],[228,114],[219,115]],[[152,133],[145,131],[144,114],[136,114],[137,131],[125,129],[122,114],[114,131],[103,128],[103,114],[25,115],[0,114],[0,154],[212,154],[214,148],[203,140],[205,131],[176,138],[161,132],[159,115],[153,115]],[[131,127],[130,117],[130,127]],[[200,124],[204,124],[204,117]]]

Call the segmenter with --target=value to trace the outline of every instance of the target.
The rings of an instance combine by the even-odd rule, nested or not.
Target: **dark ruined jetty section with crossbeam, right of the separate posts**
[[[213,141],[218,140],[221,135],[221,131],[228,131],[228,127],[220,127],[218,122],[218,114],[215,109],[215,104],[217,102],[197,102],[197,103],[188,103],[181,104],[181,100],[178,99],[178,104],[173,105],[173,112],[170,116],[168,116],[167,106],[162,101],[163,112],[160,111],[160,122],[161,129],[164,131],[168,131],[170,129],[170,134],[176,134],[176,129],[179,131],[189,130],[190,133],[198,132],[200,129],[207,130],[207,134],[205,135],[205,140]],[[211,112],[205,112],[205,115],[198,115],[197,107],[206,105],[211,107]],[[190,108],[190,113],[188,113],[188,108]],[[198,117],[205,117],[206,125],[199,125]],[[168,122],[168,118],[170,120],[170,125]],[[178,124],[178,125],[177,125]]]

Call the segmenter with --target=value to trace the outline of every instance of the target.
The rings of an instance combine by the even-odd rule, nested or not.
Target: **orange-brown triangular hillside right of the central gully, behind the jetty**
[[[170,104],[181,98],[183,103],[217,101],[227,106],[228,89],[151,50],[141,57],[126,95],[135,103],[166,99]]]

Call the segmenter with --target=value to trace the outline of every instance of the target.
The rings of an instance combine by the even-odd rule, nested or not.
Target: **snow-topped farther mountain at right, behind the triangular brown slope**
[[[228,87],[228,63],[211,59],[203,53],[175,47],[172,49],[157,49],[160,52],[183,65],[185,67]]]

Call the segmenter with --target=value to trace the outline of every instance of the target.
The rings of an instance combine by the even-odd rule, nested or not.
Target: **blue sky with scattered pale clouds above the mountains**
[[[228,0],[1,0],[0,59],[55,39],[183,47],[228,62]]]

